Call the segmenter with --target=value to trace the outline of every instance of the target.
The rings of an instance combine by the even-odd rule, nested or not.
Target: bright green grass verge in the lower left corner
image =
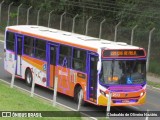
[[[27,93],[18,89],[11,89],[8,85],[0,81],[0,111],[59,111],[61,116],[67,116],[67,112],[63,112],[57,107],[53,107],[49,102],[30,97]],[[54,112],[53,112],[54,113]],[[71,112],[72,113],[72,112]],[[0,118],[0,120],[81,120],[80,114],[71,115],[72,117],[42,117],[42,118]]]

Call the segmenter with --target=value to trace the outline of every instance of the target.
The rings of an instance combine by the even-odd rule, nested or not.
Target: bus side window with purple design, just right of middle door
[[[64,67],[70,67],[71,65],[71,47],[60,45],[59,51],[59,65]]]

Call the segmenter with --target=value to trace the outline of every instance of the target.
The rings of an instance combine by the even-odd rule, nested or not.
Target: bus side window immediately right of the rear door
[[[34,38],[24,37],[24,54],[34,56]]]

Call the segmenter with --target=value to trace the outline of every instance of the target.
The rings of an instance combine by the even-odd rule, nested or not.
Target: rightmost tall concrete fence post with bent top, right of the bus
[[[152,33],[155,30],[155,28],[153,28],[150,32],[149,32],[149,42],[148,42],[148,52],[147,52],[147,64],[146,64],[146,69],[147,72],[149,70],[149,62],[150,62],[150,51],[151,51],[151,39],[152,39]]]

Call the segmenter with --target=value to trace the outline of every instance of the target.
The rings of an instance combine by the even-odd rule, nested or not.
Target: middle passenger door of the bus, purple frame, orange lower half
[[[57,65],[57,49],[58,46],[48,44],[48,57],[47,57],[47,86],[50,88],[54,87],[54,78],[56,74]]]

